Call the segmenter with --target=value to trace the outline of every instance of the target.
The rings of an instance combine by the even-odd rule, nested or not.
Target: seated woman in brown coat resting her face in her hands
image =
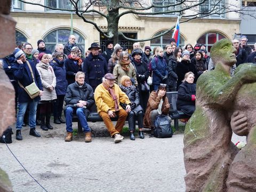
[[[156,91],[149,95],[148,104],[143,119],[144,127],[151,129],[151,135],[154,133],[154,122],[159,114],[168,116],[170,110],[169,100],[166,97],[166,84],[160,84]],[[171,121],[171,117],[168,116]]]

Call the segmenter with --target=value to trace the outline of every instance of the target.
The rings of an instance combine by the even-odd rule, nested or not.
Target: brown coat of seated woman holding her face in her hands
[[[156,91],[152,91],[151,94],[149,95],[147,109],[143,119],[144,127],[151,128],[151,111],[158,108],[160,101],[161,101],[161,98],[158,97]],[[170,107],[166,107],[168,103],[169,103],[168,98],[165,97],[163,99],[163,105],[161,109],[163,115],[169,114]]]

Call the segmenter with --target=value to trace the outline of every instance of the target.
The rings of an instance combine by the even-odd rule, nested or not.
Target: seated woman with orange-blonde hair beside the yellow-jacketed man
[[[135,132],[135,116],[138,118],[138,127],[139,127],[139,137],[144,139],[143,135],[143,109],[140,106],[140,98],[139,92],[136,90],[136,87],[132,85],[131,78],[127,75],[124,75],[121,78],[121,82],[119,84],[121,90],[127,95],[129,100],[131,101],[131,111],[128,114],[128,123],[129,123],[129,131],[130,131],[130,139],[135,140],[134,132]]]

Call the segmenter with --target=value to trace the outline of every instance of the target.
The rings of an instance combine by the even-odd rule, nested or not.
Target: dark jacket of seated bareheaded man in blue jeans
[[[67,107],[74,107],[79,100],[87,102],[87,109],[94,103],[92,87],[87,83],[84,83],[82,87],[79,87],[77,82],[68,85],[67,93],[65,95],[65,109],[67,109]]]

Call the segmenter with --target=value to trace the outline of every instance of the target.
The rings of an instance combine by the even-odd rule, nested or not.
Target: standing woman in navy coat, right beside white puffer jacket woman
[[[54,58],[51,65],[56,76],[55,91],[57,94],[57,100],[53,103],[53,123],[55,124],[66,123],[66,121],[61,118],[63,110],[63,101],[68,87],[68,81],[66,79],[66,67],[64,65],[63,58],[63,52],[56,52],[54,54]]]

